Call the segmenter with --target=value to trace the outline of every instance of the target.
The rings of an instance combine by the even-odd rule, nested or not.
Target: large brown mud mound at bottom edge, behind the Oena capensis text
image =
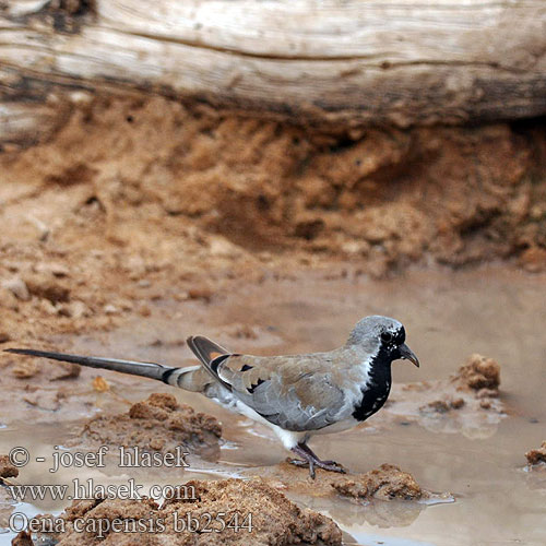
[[[194,488],[192,499],[167,500],[161,508],[152,500],[74,501],[63,514],[67,521],[66,532],[45,536],[58,541],[58,546],[133,544],[134,533],[108,531],[104,536],[99,536],[98,532],[78,532],[74,522],[80,519],[95,520],[104,522],[106,527],[108,523],[111,526],[114,521],[120,521],[120,529],[123,529],[124,524],[131,529],[131,520],[141,520],[145,521],[150,529],[161,530],[161,524],[164,526],[161,532],[139,534],[139,539],[144,541],[139,544],[150,546],[342,544],[342,533],[332,520],[311,510],[298,508],[283,494],[261,480],[193,480],[185,485],[188,490],[190,487]],[[235,514],[238,514],[237,521],[241,525],[238,531],[234,529]],[[176,525],[188,521],[189,517],[200,522],[200,532],[177,532]],[[178,523],[175,523],[175,518]],[[205,524],[209,529],[219,530],[221,521],[230,521],[230,526],[226,525],[219,532],[202,532]]]

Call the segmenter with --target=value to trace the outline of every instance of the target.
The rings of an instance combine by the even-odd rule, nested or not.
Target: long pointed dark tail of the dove
[[[100,358],[96,356],[67,355],[63,353],[54,353],[49,351],[36,351],[33,348],[7,348],[5,353],[15,355],[38,356],[50,358],[52,360],[61,360],[64,363],[80,364],[88,368],[100,368],[112,371],[121,371],[122,373],[131,373],[133,376],[142,376],[151,379],[163,381],[167,384],[185,388],[182,376],[190,371],[195,371],[200,366],[191,366],[188,368],[174,368],[171,366],[163,366],[155,363],[136,363],[133,360],[118,360],[116,358]]]

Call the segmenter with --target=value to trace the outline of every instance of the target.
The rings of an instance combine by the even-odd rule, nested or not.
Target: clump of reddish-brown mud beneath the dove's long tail
[[[154,393],[120,415],[99,415],[84,428],[83,437],[107,446],[139,447],[144,451],[174,453],[183,444],[191,451],[217,446],[222,427],[212,415],[179,404],[171,394]]]

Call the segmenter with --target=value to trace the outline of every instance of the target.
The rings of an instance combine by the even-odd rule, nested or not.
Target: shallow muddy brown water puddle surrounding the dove
[[[353,280],[351,275],[324,280],[317,273],[305,280],[245,286],[211,305],[158,301],[149,319],[140,318],[115,332],[59,339],[58,343],[72,352],[182,365],[190,358],[182,344],[189,334],[210,335],[237,352],[323,351],[343,343],[363,316],[381,313],[405,324],[407,343],[422,361],[418,370],[404,361],[394,363],[395,383],[446,379],[470,354],[490,356],[501,366],[501,400],[508,413],[502,419],[487,417],[484,410],[479,418],[454,427],[455,411],[434,415],[429,422],[412,420],[393,416],[393,404],[391,412],[385,407],[363,428],[311,440],[320,456],[335,459],[353,472],[366,472],[385,462],[396,464],[424,488],[452,494],[455,502],[364,506],[334,497],[298,500],[332,517],[353,537],[347,544],[543,545],[546,484],[544,477],[525,473],[523,467],[525,451],[546,439],[545,308],[546,277],[503,270],[419,272],[384,282]],[[250,334],[248,327],[252,327]],[[81,390],[96,375],[95,370],[83,370],[70,384]],[[174,392],[145,379],[100,375],[117,397],[111,392],[81,395],[58,412],[40,414],[43,425],[28,419],[22,424],[21,414],[4,408],[2,423],[8,427],[0,430],[0,452],[7,452],[15,440],[50,452],[51,442],[62,443],[75,425],[96,412],[97,405],[120,412],[128,407],[123,399],[133,402],[151,392]],[[218,467],[225,475],[238,475],[248,467],[257,467],[258,473],[287,455],[261,426],[234,418],[197,394],[174,393],[195,410],[216,415],[226,439],[218,465],[199,462],[183,479],[213,478]],[[403,389],[393,391],[392,396],[404,402]],[[19,482],[51,483],[48,474],[44,465],[35,463],[24,468]],[[116,475],[114,467],[99,474],[105,480],[127,478]],[[75,476],[74,468],[69,468],[56,474],[56,480],[69,482]],[[158,473],[154,480],[168,484],[173,474]],[[20,505],[16,510],[58,512],[67,503]],[[5,507],[0,513],[5,520]]]

